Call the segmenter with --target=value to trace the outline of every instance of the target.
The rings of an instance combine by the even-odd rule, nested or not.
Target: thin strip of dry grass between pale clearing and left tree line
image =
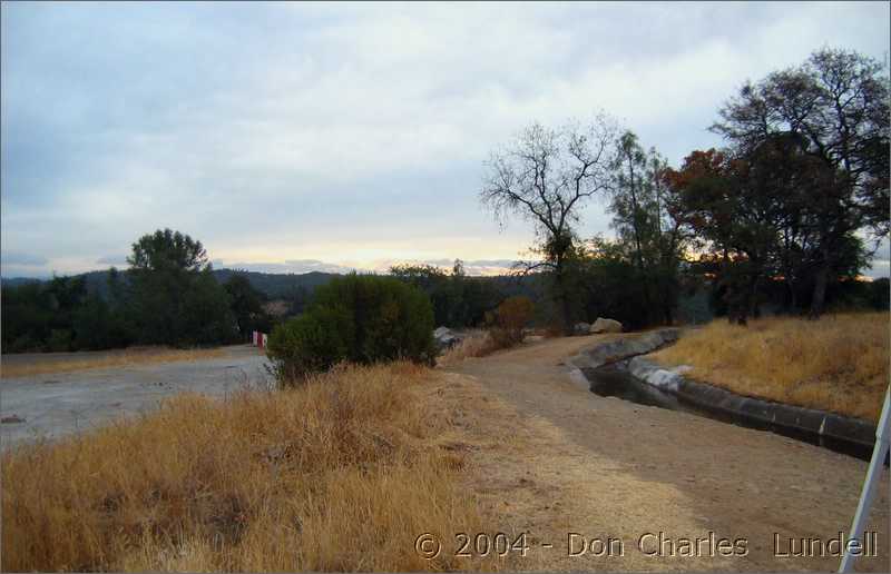
[[[179,360],[198,360],[223,356],[223,349],[158,349],[134,348],[85,358],[48,359],[40,357],[35,363],[26,365],[3,365],[0,368],[2,378],[27,377],[30,375],[45,375],[49,373],[69,373],[72,370],[87,370],[95,368],[126,367],[147,363],[175,363]]]

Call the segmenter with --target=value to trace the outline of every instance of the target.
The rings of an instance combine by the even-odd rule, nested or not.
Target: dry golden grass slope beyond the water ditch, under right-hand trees
[[[748,327],[716,320],[653,358],[691,365],[694,378],[741,395],[878,420],[888,387],[889,316],[764,318]]]

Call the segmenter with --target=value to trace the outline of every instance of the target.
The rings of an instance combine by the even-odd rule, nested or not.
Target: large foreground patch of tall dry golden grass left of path
[[[480,528],[463,455],[439,444],[440,376],[344,367],[291,390],[184,395],[6,453],[2,570],[491,570],[414,550]]]

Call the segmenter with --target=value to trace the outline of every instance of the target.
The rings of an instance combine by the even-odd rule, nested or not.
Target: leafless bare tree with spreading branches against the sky
[[[533,224],[533,250],[542,259],[526,265],[525,271],[552,273],[554,299],[566,331],[571,329],[567,259],[576,244],[574,226],[584,202],[609,187],[616,133],[615,121],[604,115],[587,126],[550,129],[533,123],[487,164],[480,200],[502,222],[518,215]]]

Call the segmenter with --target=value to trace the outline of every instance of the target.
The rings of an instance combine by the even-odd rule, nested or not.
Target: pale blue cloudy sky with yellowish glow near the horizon
[[[478,195],[523,127],[603,111],[679,166],[746,79],[891,36],[888,2],[0,10],[3,277],[121,267],[164,227],[215,267],[496,273],[533,234]],[[578,230],[610,235],[604,201]]]

